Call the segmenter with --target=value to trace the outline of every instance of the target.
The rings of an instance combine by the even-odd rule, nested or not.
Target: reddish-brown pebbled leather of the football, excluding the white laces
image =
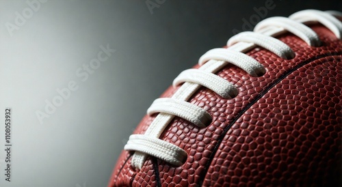
[[[239,89],[237,97],[225,100],[205,87],[192,96],[189,102],[207,110],[211,124],[200,129],[175,117],[160,137],[187,152],[185,164],[149,157],[135,171],[133,152],[122,151],[109,186],[341,185],[342,42],[322,25],[311,28],[319,47],[291,33],[278,37],[295,52],[293,59],[249,51],[265,66],[263,76],[233,65],[220,70]],[[154,118],[146,115],[133,134],[144,134]]]

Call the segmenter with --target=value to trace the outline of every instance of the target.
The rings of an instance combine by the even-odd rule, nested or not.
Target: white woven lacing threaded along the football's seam
[[[181,166],[187,158],[187,153],[168,141],[159,139],[163,130],[168,126],[174,116],[182,117],[192,122],[198,128],[204,128],[211,122],[211,115],[205,109],[187,102],[201,86],[218,93],[222,98],[237,96],[238,90],[232,84],[215,75],[226,64],[246,71],[251,76],[262,76],[265,68],[244,54],[256,47],[271,51],[283,59],[291,59],[295,53],[287,44],[277,40],[277,35],[291,32],[304,40],[310,46],[319,46],[321,43],[317,34],[304,24],[321,23],[341,39],[342,23],[334,16],[341,16],[341,12],[321,12],[319,10],[303,10],[289,16],[267,18],[259,23],[254,32],[243,32],[228,40],[228,48],[214,48],[200,57],[198,70],[185,70],[174,80],[173,85],[183,83],[172,98],[159,98],[148,109],[148,115],[159,113],[147,128],[145,134],[132,134],[129,137],[125,150],[135,151],[132,157],[132,167],[142,169],[148,155],[155,156],[176,167]],[[304,23],[304,24],[303,24]]]

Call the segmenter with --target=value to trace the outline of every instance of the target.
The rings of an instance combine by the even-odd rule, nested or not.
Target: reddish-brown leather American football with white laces
[[[341,185],[342,13],[261,20],[184,70],[108,186]]]

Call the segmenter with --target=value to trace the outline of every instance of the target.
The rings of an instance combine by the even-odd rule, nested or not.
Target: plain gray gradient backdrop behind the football
[[[266,17],[342,7],[340,1],[274,5]],[[50,0],[11,36],[8,24],[15,25],[16,12],[23,15],[29,4],[1,0],[0,186],[106,186],[153,100],[264,6],[265,1],[167,0],[150,12],[145,1]],[[107,44],[116,52],[82,81],[76,71]],[[78,89],[41,124],[36,111],[44,111],[45,101],[70,81]],[[12,182],[3,175],[7,106],[13,111]]]

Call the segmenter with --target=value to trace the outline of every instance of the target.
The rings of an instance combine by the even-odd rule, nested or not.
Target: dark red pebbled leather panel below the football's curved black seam
[[[228,130],[204,186],[337,186],[341,56],[294,71]]]

